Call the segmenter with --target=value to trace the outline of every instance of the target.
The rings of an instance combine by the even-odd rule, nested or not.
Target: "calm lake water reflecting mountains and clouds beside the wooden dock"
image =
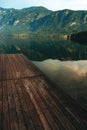
[[[23,53],[87,110],[87,46],[55,38],[0,36],[0,53]]]

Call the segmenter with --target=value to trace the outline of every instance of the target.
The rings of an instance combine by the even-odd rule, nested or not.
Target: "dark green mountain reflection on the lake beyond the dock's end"
[[[23,53],[31,60],[87,59],[87,46],[55,37],[2,37],[0,53]]]

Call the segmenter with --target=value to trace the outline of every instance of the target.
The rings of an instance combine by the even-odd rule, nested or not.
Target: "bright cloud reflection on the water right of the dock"
[[[59,61],[59,60],[45,60],[43,62],[35,62],[48,75],[62,74],[72,78],[84,78],[87,76],[87,61]],[[70,78],[69,77],[69,78]]]

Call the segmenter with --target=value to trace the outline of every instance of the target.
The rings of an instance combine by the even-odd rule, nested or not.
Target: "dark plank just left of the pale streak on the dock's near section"
[[[23,85],[22,81],[19,81],[19,82],[20,82],[21,92],[23,93],[23,96],[24,96],[24,99],[25,99],[25,103],[27,105],[28,114],[29,114],[29,117],[31,119],[31,123],[34,126],[34,129],[36,129],[36,130],[38,130],[38,129],[43,130],[43,126],[41,124],[41,121],[39,119],[37,111],[34,108],[32,100],[30,99],[30,96],[27,93],[27,91],[25,89],[25,86]]]

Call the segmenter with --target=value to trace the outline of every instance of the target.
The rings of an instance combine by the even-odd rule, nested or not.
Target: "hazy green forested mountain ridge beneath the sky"
[[[87,28],[87,11],[50,11],[44,7],[21,10],[0,8],[0,32],[72,33]]]

